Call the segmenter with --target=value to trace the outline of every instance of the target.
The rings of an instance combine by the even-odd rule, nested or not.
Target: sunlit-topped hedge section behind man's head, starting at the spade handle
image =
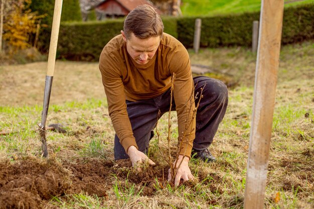
[[[61,23],[58,41],[59,58],[97,61],[103,47],[123,30],[124,19]],[[177,34],[177,19],[163,18],[165,32]]]

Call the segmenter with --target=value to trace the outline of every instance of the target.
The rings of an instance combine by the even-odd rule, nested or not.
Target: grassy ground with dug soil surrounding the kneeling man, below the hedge
[[[41,157],[46,62],[0,66],[0,208],[242,208],[252,115],[256,54],[246,48],[189,50],[233,85],[229,106],[210,146],[215,163],[192,159],[197,181],[166,181],[168,115],[159,122],[149,157],[137,172],[113,160],[114,130],[98,63],[57,61],[47,125],[50,158]],[[314,42],[283,46],[280,54],[265,208],[314,207]],[[178,136],[173,112],[172,153]]]

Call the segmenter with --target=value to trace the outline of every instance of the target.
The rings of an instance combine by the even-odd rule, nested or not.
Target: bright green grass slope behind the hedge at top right
[[[313,0],[285,0],[285,7],[313,3]],[[216,16],[259,11],[261,0],[183,0],[181,11],[184,16]]]

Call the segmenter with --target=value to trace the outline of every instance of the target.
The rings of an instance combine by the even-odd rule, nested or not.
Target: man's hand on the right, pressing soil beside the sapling
[[[181,165],[180,162],[183,159]],[[178,186],[180,183],[181,178],[183,181],[187,180],[194,180],[194,176],[191,173],[191,170],[189,168],[189,157],[184,155],[179,155],[178,161],[174,162],[176,165],[176,168],[180,165],[179,169],[177,170],[177,174],[175,176],[175,186]],[[169,174],[168,174],[168,181],[171,181],[172,175],[171,175],[171,169],[169,168]]]

